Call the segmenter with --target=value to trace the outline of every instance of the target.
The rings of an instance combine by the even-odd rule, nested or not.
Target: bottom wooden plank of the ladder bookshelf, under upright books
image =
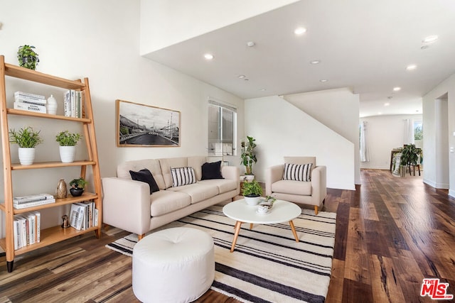
[[[41,241],[39,243],[31,244],[14,250],[14,254],[21,255],[22,253],[28,253],[29,251],[36,250],[38,248],[43,248],[45,246],[58,243],[68,238],[80,236],[84,233],[90,233],[91,231],[96,231],[97,229],[98,229],[97,226],[87,228],[84,231],[77,231],[77,229],[73,227],[62,228],[61,226],[53,226],[50,228],[41,229]],[[4,250],[6,250],[5,238],[0,239],[0,246]]]

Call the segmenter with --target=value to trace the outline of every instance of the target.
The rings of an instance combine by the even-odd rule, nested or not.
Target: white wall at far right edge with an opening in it
[[[441,113],[440,102],[447,101],[446,133],[448,138],[441,138]],[[449,153],[448,162],[441,162],[441,155],[447,153],[447,148],[455,148],[455,75],[445,79],[441,84],[432,89],[423,97],[423,123],[424,123],[424,182],[436,188],[447,188],[449,195],[455,197],[455,153]],[[446,144],[446,145],[444,145]],[[444,156],[445,158],[445,156]],[[445,167],[444,167],[445,165]],[[449,180],[444,177],[443,171],[448,168]]]

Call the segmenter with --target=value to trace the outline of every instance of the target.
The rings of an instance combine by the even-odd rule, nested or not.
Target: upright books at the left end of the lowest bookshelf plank
[[[41,214],[39,211],[29,211],[14,216],[14,249],[22,248],[41,239]]]

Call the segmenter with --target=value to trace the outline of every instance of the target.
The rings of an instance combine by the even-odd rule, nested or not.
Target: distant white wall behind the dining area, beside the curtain
[[[370,162],[360,162],[361,168],[373,168],[379,170],[390,169],[390,151],[400,148],[405,140],[405,119],[421,121],[422,115],[390,115],[370,116],[360,118],[360,121],[368,122],[368,147],[370,150]],[[427,137],[427,129],[424,129],[424,139]],[[426,157],[424,155],[424,160]]]

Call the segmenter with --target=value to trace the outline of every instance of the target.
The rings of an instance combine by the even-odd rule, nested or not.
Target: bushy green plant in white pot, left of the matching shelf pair
[[[36,145],[43,142],[40,131],[35,131],[27,126],[16,131],[14,128],[9,130],[9,142],[19,146],[18,155],[21,165],[31,165],[35,160]]]

